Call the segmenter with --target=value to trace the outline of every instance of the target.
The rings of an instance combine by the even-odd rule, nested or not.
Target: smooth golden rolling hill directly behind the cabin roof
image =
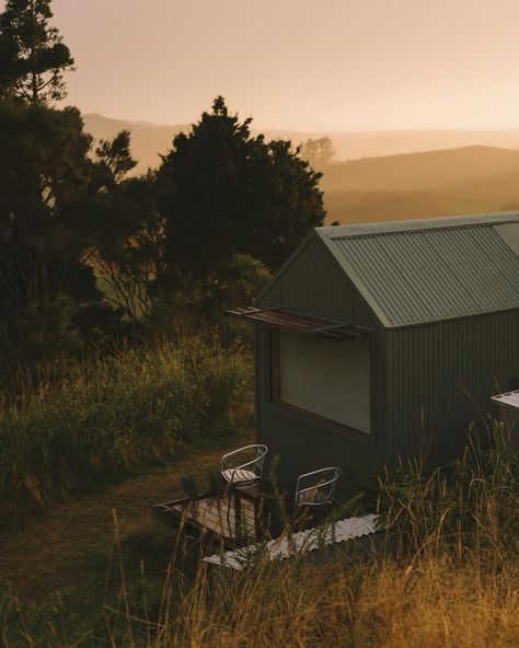
[[[500,211],[519,204],[519,151],[495,147],[353,160],[323,170],[327,221]]]

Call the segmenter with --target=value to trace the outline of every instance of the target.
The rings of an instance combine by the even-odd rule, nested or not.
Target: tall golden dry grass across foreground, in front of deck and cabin
[[[125,575],[118,526],[111,597],[97,625],[14,600],[0,605],[9,646],[147,648],[512,648],[519,638],[519,463],[493,430],[451,471],[410,465],[380,484],[382,548],[258,560],[234,572],[178,569],[160,591]],[[18,608],[16,608],[18,605]],[[42,621],[45,620],[45,621]]]

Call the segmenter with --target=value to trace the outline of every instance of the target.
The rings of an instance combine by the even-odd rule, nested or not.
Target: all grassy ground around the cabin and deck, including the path
[[[210,331],[15,374],[0,413],[0,645],[517,645],[512,430],[489,420],[491,447],[448,468],[345,474],[348,510],[380,514],[372,551],[208,570],[150,504],[195,488],[193,473],[207,487],[252,428],[250,350]]]

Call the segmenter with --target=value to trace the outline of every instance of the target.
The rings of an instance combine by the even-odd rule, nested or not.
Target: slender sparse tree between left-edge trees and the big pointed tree
[[[107,285],[104,298],[136,324],[160,293],[163,222],[155,209],[154,173],[128,177],[136,161],[130,134],[120,131],[96,148],[84,220],[89,258]]]

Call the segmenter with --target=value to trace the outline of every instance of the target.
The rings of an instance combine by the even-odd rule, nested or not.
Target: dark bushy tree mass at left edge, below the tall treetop
[[[0,338],[11,364],[100,343],[123,331],[123,315],[151,312],[163,231],[154,177],[125,177],[135,165],[127,131],[101,141],[94,161],[90,150],[76,108],[0,101]],[[18,332],[30,323],[37,349],[16,354]],[[56,324],[73,344],[54,339]]]

